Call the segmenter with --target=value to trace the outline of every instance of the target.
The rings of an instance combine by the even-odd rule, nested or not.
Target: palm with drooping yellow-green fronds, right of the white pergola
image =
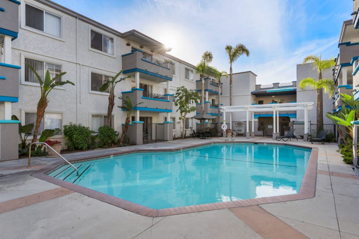
[[[313,69],[318,71],[318,80],[314,80],[311,77],[305,78],[300,81],[299,87],[301,89],[308,87],[317,91],[317,129],[321,129],[323,128],[323,89],[326,94],[329,94],[329,98],[334,94],[335,90],[335,82],[332,79],[323,79],[322,71],[333,68],[335,61],[332,57],[322,60],[322,55],[310,55],[304,58],[303,64],[306,63],[311,63]]]

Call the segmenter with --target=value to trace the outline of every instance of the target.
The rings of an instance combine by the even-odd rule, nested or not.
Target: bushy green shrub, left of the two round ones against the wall
[[[67,140],[65,145],[69,147],[70,151],[75,149],[87,149],[90,148],[90,138],[95,133],[90,130],[89,127],[85,127],[81,124],[64,125],[64,135]]]

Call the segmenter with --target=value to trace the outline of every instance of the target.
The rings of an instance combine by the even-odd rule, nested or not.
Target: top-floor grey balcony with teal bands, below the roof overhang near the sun
[[[163,62],[151,56],[146,56],[139,49],[131,50],[131,53],[122,55],[123,74],[135,76],[140,73],[140,78],[154,81],[172,81],[173,63]]]

